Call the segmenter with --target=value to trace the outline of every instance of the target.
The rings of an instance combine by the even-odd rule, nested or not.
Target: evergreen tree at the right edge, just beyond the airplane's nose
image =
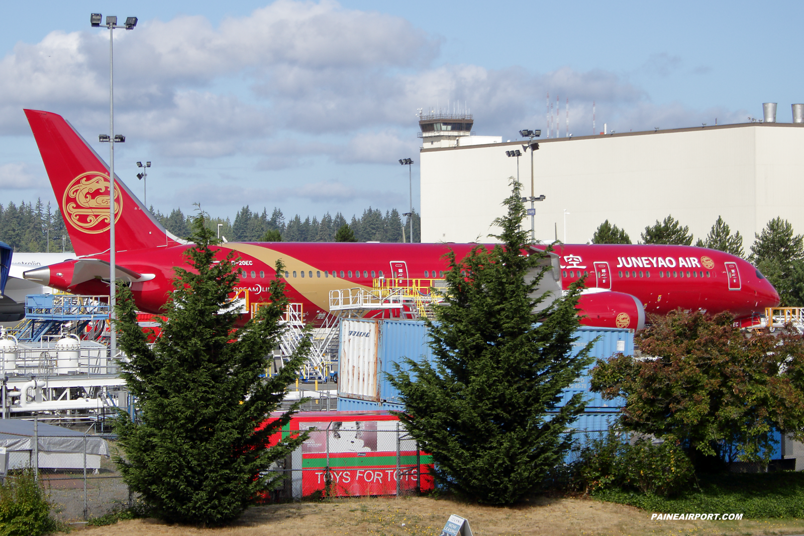
[[[749,261],[757,266],[779,293],[782,307],[804,305],[804,237],[794,234],[790,221],[781,217],[754,233]]]

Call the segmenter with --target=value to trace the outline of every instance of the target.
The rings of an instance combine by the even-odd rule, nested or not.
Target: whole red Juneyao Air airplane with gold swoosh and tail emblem
[[[109,174],[105,162],[64,118],[26,110],[72,245],[79,258],[29,270],[26,279],[75,294],[109,293]],[[137,307],[158,314],[172,290],[173,267],[183,266],[191,247],[158,223],[119,178],[115,182],[117,278],[130,283]],[[220,257],[234,251],[240,287],[252,303],[269,299],[277,259],[285,264],[287,293],[302,303],[307,320],[330,311],[330,290],[371,290],[375,279],[439,279],[445,252],[461,258],[476,244],[380,244],[317,242],[225,242]],[[544,250],[546,246],[534,246]],[[646,312],[678,307],[710,313],[730,311],[750,325],[765,307],[775,307],[773,286],[745,260],[691,246],[556,246],[540,291],[560,295],[586,278],[581,323],[641,329]],[[366,315],[400,315],[392,310]]]

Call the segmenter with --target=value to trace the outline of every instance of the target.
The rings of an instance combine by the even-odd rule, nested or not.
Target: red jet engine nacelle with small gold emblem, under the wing
[[[576,308],[580,323],[594,327],[645,327],[645,307],[639,298],[624,292],[588,292],[581,294]]]

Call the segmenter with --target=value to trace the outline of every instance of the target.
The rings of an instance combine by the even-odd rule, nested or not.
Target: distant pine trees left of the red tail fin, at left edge
[[[0,242],[19,252],[72,251],[61,213],[50,202],[44,205],[41,198],[36,203],[0,204]]]

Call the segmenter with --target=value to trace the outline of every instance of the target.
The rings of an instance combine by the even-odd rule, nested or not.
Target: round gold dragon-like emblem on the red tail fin
[[[90,171],[74,178],[64,189],[64,219],[83,233],[98,234],[109,230],[109,175]],[[114,189],[114,222],[123,212],[120,187]]]

